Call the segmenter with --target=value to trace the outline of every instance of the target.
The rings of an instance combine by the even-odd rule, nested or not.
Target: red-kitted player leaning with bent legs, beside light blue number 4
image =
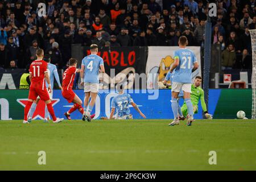
[[[76,73],[80,72],[80,69],[76,69],[77,67],[77,60],[76,59],[69,59],[69,67],[65,70],[63,73],[63,79],[62,79],[62,87],[63,91],[62,96],[70,103],[73,102],[74,105],[69,109],[69,111],[65,112],[64,115],[67,117],[67,119],[71,119],[70,115],[78,109],[81,114],[84,113],[84,108],[82,107],[82,101],[81,99],[73,92],[73,82],[75,80]],[[95,115],[95,114],[94,114]],[[94,117],[92,115],[92,117]]]

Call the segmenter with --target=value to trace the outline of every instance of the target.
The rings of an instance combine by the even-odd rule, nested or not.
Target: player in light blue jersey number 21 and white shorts
[[[197,63],[195,53],[187,49],[188,39],[185,36],[179,38],[179,49],[174,52],[174,64],[170,69],[172,76],[172,111],[174,113],[174,121],[169,125],[174,126],[179,124],[178,118],[178,103],[177,97],[180,90],[183,90],[184,100],[188,107],[188,123],[187,126],[191,126],[193,121],[193,105],[191,102],[191,81],[192,71],[199,67]]]

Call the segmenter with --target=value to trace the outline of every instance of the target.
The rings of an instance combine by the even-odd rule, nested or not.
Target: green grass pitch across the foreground
[[[0,121],[0,170],[256,170],[256,121],[169,122]]]

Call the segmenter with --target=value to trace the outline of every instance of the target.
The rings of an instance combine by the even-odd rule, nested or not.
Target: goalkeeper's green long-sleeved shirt
[[[198,105],[199,99],[201,101],[201,106],[203,108],[203,111],[207,111],[206,104],[204,102],[204,90],[198,86],[197,88],[195,87],[194,84],[191,85],[191,102],[192,105]]]

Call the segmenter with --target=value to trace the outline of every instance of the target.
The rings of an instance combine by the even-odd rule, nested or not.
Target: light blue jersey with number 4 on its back
[[[104,65],[103,59],[98,55],[85,56],[82,59],[82,65],[84,65],[84,82],[98,84],[98,71],[100,65]]]

